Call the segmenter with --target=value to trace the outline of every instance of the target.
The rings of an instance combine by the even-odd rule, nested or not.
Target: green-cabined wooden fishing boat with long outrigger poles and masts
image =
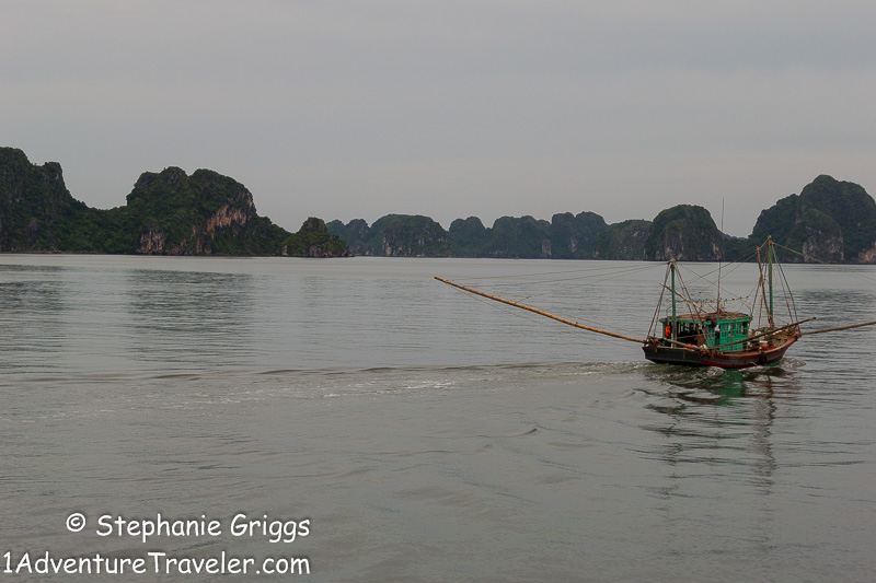
[[[462,291],[533,312],[568,326],[639,343],[645,352],[645,358],[660,364],[717,366],[721,369],[774,366],[781,362],[785,352],[806,335],[876,324],[876,320],[873,320],[817,330],[802,330],[802,324],[816,318],[797,318],[793,295],[777,261],[771,237],[756,248],[756,257],[760,275],[754,292],[751,296],[738,299],[741,301],[741,307],[736,308],[729,307],[728,301],[721,298],[721,268],[718,268],[716,296],[711,301],[698,301],[691,296],[681,281],[677,261],[669,260],[657,311],[652,318],[648,335],[644,339],[579,324],[443,278],[436,277],[435,279]],[[787,314],[782,315],[781,322],[774,310],[776,280],[781,282],[781,299],[787,308]],[[666,296],[667,291],[669,292],[668,298]]]

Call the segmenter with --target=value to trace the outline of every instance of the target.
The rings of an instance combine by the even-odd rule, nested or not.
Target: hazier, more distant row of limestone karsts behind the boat
[[[876,202],[858,185],[818,176],[799,195],[761,212],[749,237],[723,235],[710,212],[679,205],[653,221],[607,224],[592,212],[551,221],[503,217],[492,228],[457,219],[445,231],[428,217],[389,214],[327,223],[357,255],[553,259],[746,260],[768,235],[784,261],[876,263]]]

